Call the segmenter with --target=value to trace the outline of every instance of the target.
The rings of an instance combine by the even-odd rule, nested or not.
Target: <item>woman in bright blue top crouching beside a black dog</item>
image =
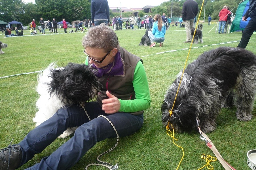
[[[165,35],[165,23],[162,21],[162,17],[160,14],[156,14],[155,17],[155,22],[153,24],[153,29],[152,31],[149,31],[147,34],[149,35],[149,39],[151,41],[151,46],[154,47],[156,46],[155,42],[160,43],[160,47],[164,45],[164,35]]]

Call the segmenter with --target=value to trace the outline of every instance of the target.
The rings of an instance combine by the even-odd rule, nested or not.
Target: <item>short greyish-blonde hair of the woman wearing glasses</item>
[[[120,49],[116,33],[106,24],[91,27],[82,39],[82,45],[90,48],[100,48],[108,52],[114,48]]]

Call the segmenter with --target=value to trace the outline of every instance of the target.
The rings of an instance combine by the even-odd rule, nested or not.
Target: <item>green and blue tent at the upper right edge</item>
[[[242,21],[242,17],[249,9],[249,0],[245,0],[241,2],[236,10],[236,14],[234,15],[234,20],[232,21],[230,32],[234,31],[243,31],[248,24],[250,17],[247,18],[247,21]]]

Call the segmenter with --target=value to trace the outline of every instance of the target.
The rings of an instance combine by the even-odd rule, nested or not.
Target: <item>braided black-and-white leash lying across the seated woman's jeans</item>
[[[83,107],[82,105],[81,105],[81,107],[84,109],[84,107]],[[87,112],[86,112],[85,109],[84,109],[84,111],[85,111],[85,113],[86,113],[88,119],[91,121],[90,116],[87,114]],[[112,151],[113,149],[115,149],[115,147],[117,147],[117,144],[118,144],[118,142],[119,142],[119,135],[118,135],[117,129],[115,128],[115,126],[113,125],[113,123],[112,123],[106,116],[100,115],[100,116],[98,116],[98,117],[103,117],[103,118],[105,118],[105,119],[111,124],[111,126],[112,126],[113,129],[115,130],[115,133],[117,134],[117,143],[115,144],[115,146],[113,146],[112,148],[110,148],[110,149],[107,150],[106,152],[103,152],[102,154],[100,154],[100,155],[97,157],[97,161],[98,161],[99,163],[90,163],[89,165],[87,165],[87,166],[85,167],[84,170],[87,170],[87,168],[88,168],[89,166],[91,166],[91,165],[103,166],[103,167],[108,168],[109,170],[118,169],[118,164],[116,164],[116,165],[111,165],[110,163],[103,162],[103,161],[100,160],[100,157],[101,157],[101,156],[107,154],[108,152],[110,152],[110,151]]]

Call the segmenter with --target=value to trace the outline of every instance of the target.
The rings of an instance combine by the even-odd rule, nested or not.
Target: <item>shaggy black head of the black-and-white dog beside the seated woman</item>
[[[50,95],[55,94],[65,104],[89,101],[98,94],[100,84],[93,68],[85,64],[68,63],[63,69],[51,70]]]

